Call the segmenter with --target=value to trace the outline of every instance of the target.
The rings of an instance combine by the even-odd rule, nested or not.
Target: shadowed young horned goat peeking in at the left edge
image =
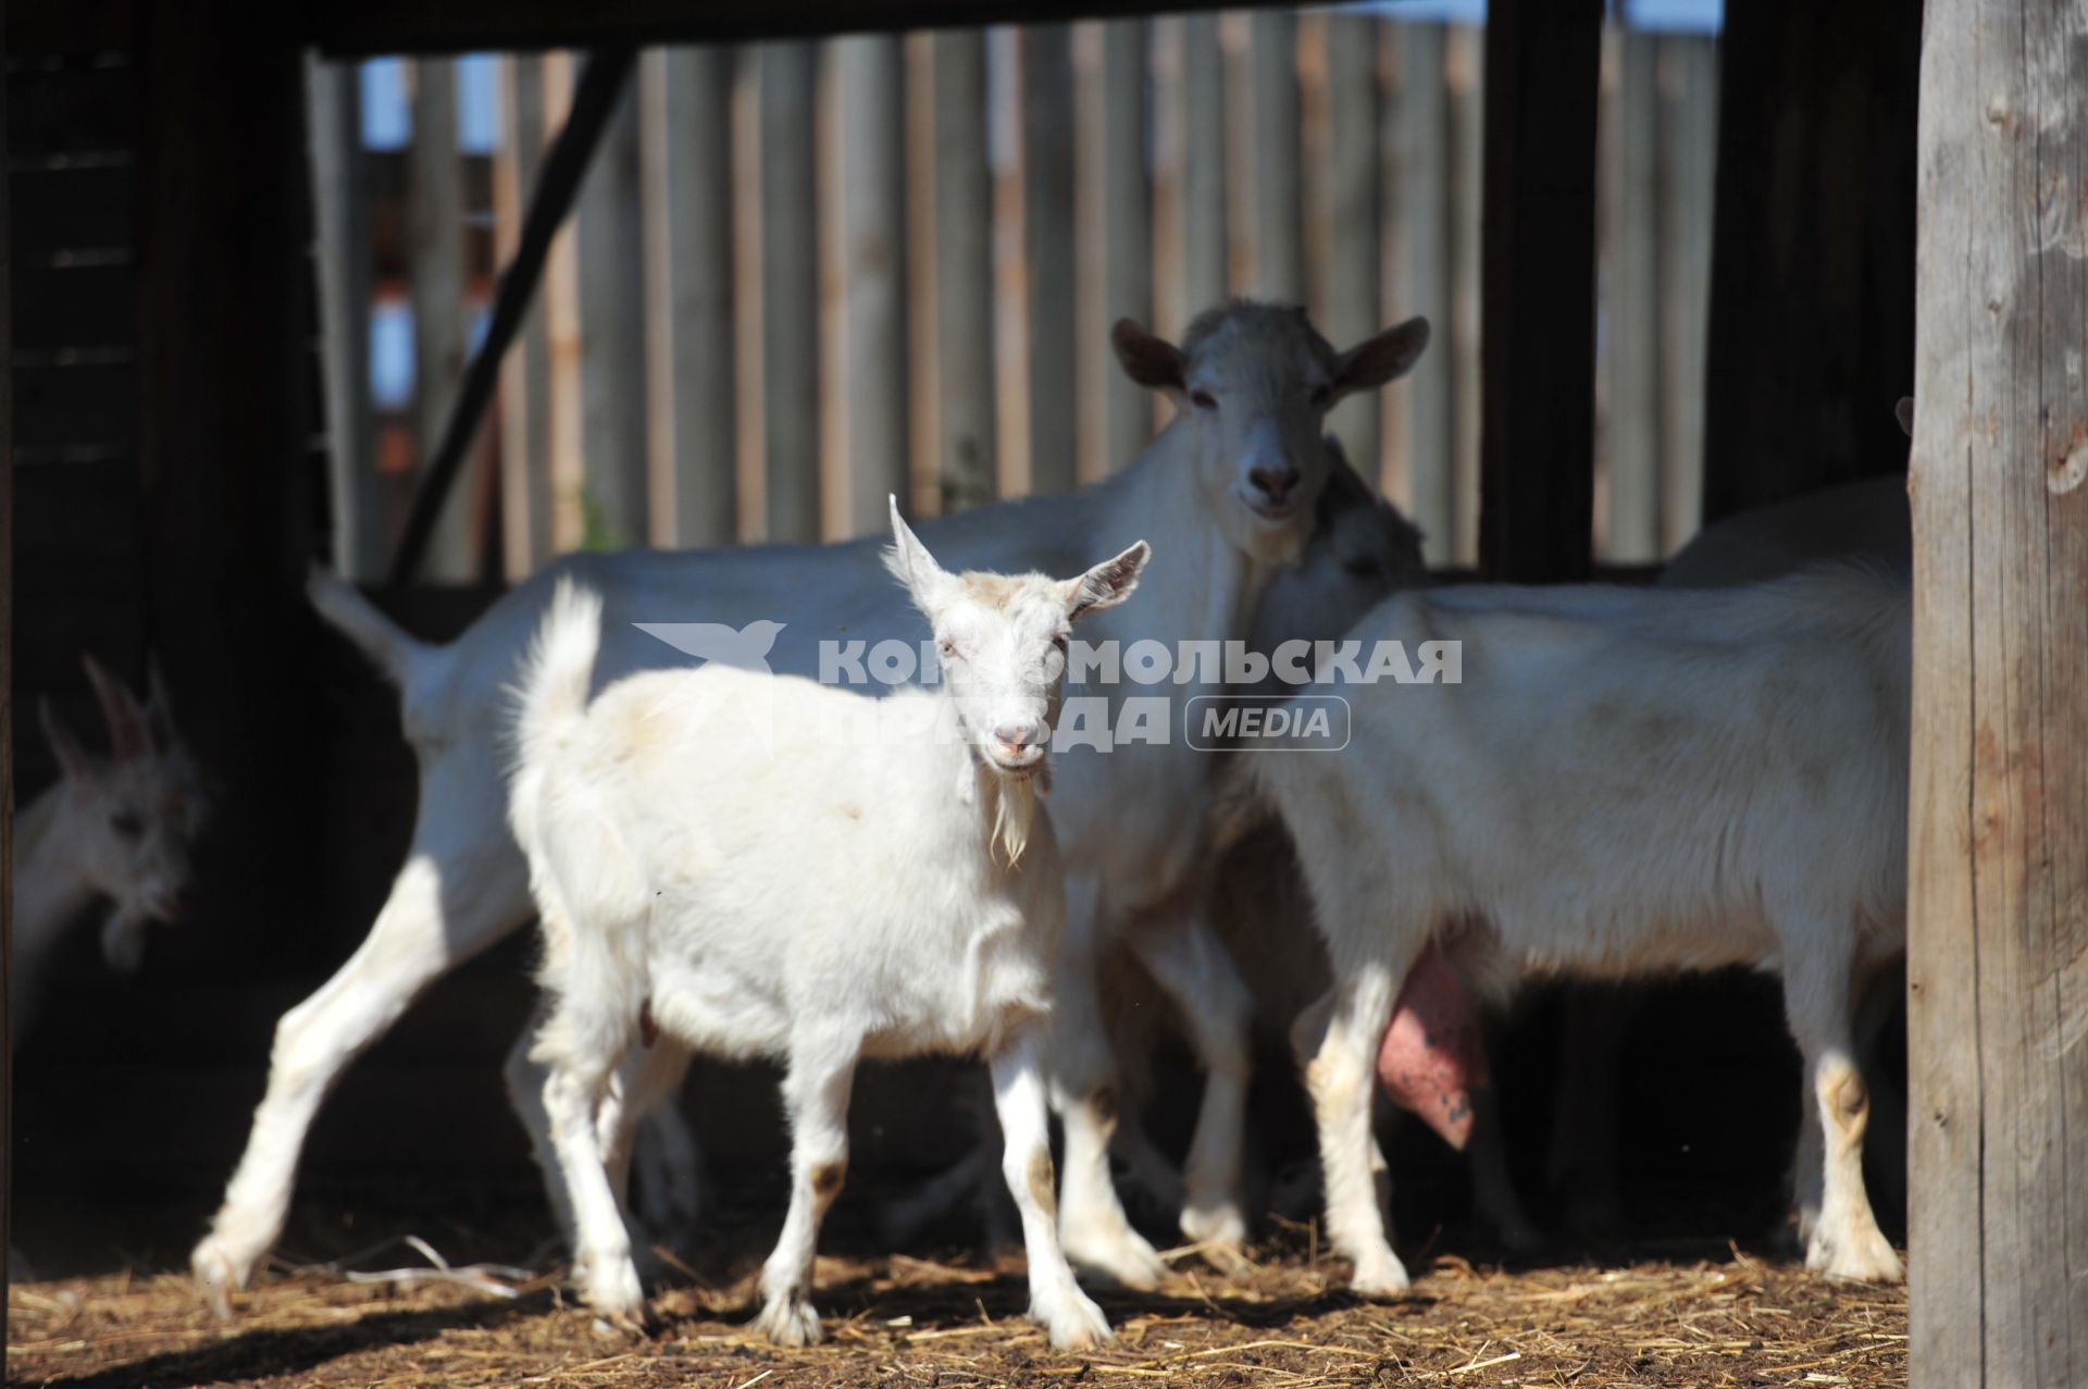
[[[140,704],[98,660],[81,664],[109,725],[109,756],[81,748],[50,702],[38,702],[58,781],[15,817],[15,1036],[27,1030],[52,946],[90,902],[113,902],[100,946],[119,973],[144,961],[148,923],[188,911],[190,846],[211,806],[159,666]]]

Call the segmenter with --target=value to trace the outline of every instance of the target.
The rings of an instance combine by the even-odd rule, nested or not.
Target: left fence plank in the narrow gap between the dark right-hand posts
[[[1608,464],[1608,545],[1614,564],[1660,558],[1660,303],[1656,297],[1656,161],[1660,121],[1656,38],[1610,29],[1616,84],[1608,94],[1604,201],[1610,213],[1606,284],[1610,290],[1604,418]]]

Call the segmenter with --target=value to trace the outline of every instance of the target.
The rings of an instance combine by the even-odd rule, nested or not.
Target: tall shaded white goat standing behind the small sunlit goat
[[[1221,641],[1242,637],[1270,576],[1297,560],[1326,478],[1322,422],[1343,397],[1405,374],[1428,343],[1411,320],[1334,351],[1303,311],[1236,303],[1205,313],[1182,347],[1119,324],[1130,376],[1180,405],[1130,466],[1071,497],[979,508],[923,524],[938,554],[963,568],[1073,570],[1148,535],[1167,564],[1128,614],[1096,618],[1094,639]],[[413,846],[361,948],[282,1017],[267,1094],[246,1153],[192,1268],[230,1312],[255,1262],[276,1241],[296,1157],[334,1078],[455,963],[520,927],[530,913],[522,854],[505,825],[499,691],[537,629],[560,576],[601,593],[610,629],[597,668],[608,683],[635,670],[693,664],[631,622],[710,622],[775,637],[768,666],[812,675],[827,637],[919,641],[921,618],[877,579],[877,545],[574,556],[497,602],[451,645],[416,641],[349,585],[315,576],[319,614],[401,685],[403,725],[420,758]],[[1119,620],[1123,618],[1123,620]],[[1215,685],[1173,685],[1178,706]],[[1111,719],[1136,687],[1096,689]],[[1109,1184],[1113,1061],[1098,1023],[1094,961],[1132,940],[1167,990],[1201,1017],[1209,1069],[1203,1122],[1188,1161],[1184,1228],[1238,1239],[1236,1184],[1247,1088],[1247,990],[1194,913],[1205,863],[1203,800],[1211,758],[1173,739],[1057,764],[1054,823],[1067,865],[1067,932],[1054,1049],[1054,1090],[1067,1126],[1061,1224],[1075,1262],[1130,1285],[1163,1266],[1123,1220]],[[1221,1044],[1207,1046],[1211,1038]],[[666,1082],[647,1078],[647,1088]],[[541,1076],[518,1049],[509,1090],[543,1155]],[[637,1105],[643,1109],[645,1105]],[[624,1138],[616,1153],[628,1149]],[[612,1159],[616,1157],[612,1153]],[[555,1184],[553,1184],[555,1191]],[[555,1199],[555,1197],[553,1197]]]

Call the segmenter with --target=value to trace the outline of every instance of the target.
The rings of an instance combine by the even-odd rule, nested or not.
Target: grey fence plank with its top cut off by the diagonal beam
[[[580,253],[583,524],[591,549],[643,545],[645,228],[639,217],[639,109],[626,88],[574,207]]]

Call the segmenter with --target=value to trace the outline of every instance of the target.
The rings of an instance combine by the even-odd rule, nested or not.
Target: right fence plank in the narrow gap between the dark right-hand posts
[[[1704,353],[1710,317],[1710,190],[1718,157],[1718,46],[1660,40],[1660,554],[1704,518]]]

